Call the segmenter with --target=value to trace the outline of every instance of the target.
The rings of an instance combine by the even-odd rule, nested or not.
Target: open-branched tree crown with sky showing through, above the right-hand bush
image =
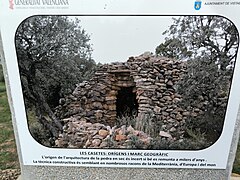
[[[173,19],[164,43],[156,54],[189,60],[207,56],[226,70],[236,59],[238,31],[228,19],[219,16],[181,16]]]

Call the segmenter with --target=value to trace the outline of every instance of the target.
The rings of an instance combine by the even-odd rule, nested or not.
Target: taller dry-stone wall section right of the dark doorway
[[[138,108],[137,129],[147,116],[156,116],[155,127],[161,132],[183,134],[182,127],[190,115],[178,106],[182,100],[175,85],[185,73],[183,62],[164,57],[142,55],[128,60],[136,82]],[[162,133],[163,134],[163,133]],[[160,133],[161,135],[161,133]]]

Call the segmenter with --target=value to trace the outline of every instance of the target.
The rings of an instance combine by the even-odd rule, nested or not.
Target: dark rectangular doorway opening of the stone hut
[[[122,87],[117,95],[117,116],[137,115],[138,103],[133,87]]]

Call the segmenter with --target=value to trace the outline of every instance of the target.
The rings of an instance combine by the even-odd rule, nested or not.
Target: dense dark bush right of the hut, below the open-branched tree
[[[188,62],[187,73],[176,86],[182,94],[182,107],[192,111],[204,111],[196,117],[189,117],[187,128],[201,129],[213,143],[222,132],[230,88],[230,71],[219,71],[217,65],[208,59],[197,58]]]

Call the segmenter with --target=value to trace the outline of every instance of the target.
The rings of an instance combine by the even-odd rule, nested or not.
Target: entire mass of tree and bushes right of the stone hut
[[[183,97],[181,106],[204,112],[189,118],[186,127],[200,129],[215,142],[224,123],[233,73],[229,67],[236,60],[238,31],[223,17],[182,16],[173,19],[163,34],[168,36],[156,48],[156,54],[185,61],[187,66],[175,87]]]

